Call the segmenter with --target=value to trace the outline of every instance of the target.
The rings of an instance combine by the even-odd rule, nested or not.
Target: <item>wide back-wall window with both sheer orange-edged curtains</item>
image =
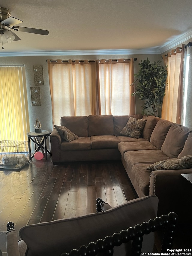
[[[61,116],[135,114],[133,59],[47,62],[55,125]]]

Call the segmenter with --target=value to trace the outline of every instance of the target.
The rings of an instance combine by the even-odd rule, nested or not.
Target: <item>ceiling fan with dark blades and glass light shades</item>
[[[49,31],[44,29],[32,29],[32,28],[15,26],[19,23],[22,23],[22,20],[11,17],[11,13],[8,9],[0,7],[0,43],[6,44],[8,42],[21,40],[21,38],[19,38],[11,30],[34,33],[39,35],[49,34]],[[8,27],[9,29],[6,29],[5,27]]]

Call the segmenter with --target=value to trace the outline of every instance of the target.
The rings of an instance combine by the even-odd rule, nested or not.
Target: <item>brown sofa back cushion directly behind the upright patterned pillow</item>
[[[130,117],[134,117],[136,119],[142,119],[142,114],[130,115],[130,116],[113,116],[114,123],[114,135],[121,136],[121,131],[127,124]]]

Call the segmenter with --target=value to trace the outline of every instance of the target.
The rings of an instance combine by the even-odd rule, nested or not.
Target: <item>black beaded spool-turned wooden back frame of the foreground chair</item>
[[[97,255],[98,253],[100,253],[99,255],[113,255],[113,248],[115,246],[120,246],[122,243],[128,243],[131,240],[133,242],[130,255],[140,255],[143,236],[161,228],[164,228],[161,253],[167,253],[167,249],[173,246],[173,235],[177,218],[178,216],[175,212],[170,212],[168,215],[161,215],[161,217],[156,217],[140,225],[137,224],[134,227],[129,227],[127,230],[121,230],[119,233],[114,233],[112,236],[98,239],[96,242],[91,242],[87,246],[83,245],[80,246],[79,249],[72,249],[69,253],[62,253],[61,256],[91,256]]]

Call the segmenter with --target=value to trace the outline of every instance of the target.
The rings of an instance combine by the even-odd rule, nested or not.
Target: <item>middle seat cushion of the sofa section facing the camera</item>
[[[120,140],[114,135],[91,136],[91,149],[117,148]]]

